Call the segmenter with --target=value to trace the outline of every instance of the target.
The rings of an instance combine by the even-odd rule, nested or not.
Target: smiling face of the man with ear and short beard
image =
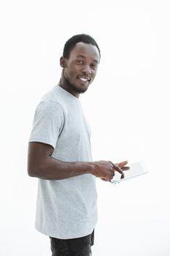
[[[63,89],[76,97],[87,91],[96,76],[99,58],[95,45],[78,42],[72,49],[69,59],[61,57]]]

